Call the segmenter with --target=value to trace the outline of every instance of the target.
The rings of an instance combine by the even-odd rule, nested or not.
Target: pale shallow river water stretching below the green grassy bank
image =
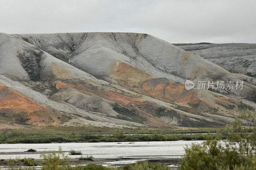
[[[186,145],[203,143],[204,141],[163,141],[163,142],[104,142],[104,143],[50,143],[50,144],[0,144],[0,159],[34,158],[40,159],[40,154],[24,154],[28,149],[37,152],[62,151],[68,155],[70,150],[81,151],[84,155],[94,158],[120,157],[148,157],[173,158],[182,156]],[[3,153],[5,152],[5,153]],[[13,153],[15,152],[15,154]],[[10,153],[10,154],[8,154]],[[79,158],[81,155],[69,155],[70,158]]]

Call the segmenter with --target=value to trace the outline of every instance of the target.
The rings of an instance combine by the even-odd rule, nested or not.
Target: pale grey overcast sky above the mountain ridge
[[[0,0],[0,32],[136,32],[170,43],[256,43],[255,0]]]

